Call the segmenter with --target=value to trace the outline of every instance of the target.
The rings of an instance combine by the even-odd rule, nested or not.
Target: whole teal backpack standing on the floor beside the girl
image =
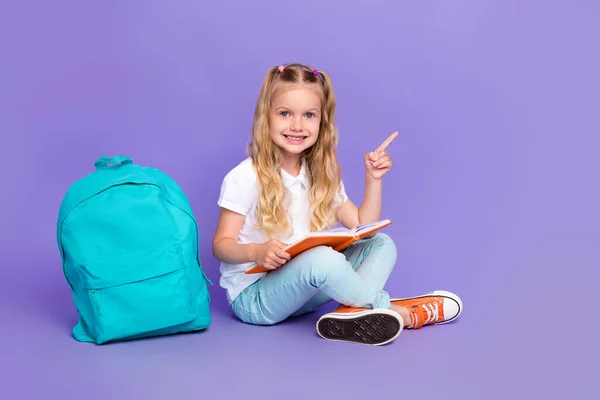
[[[95,165],[69,188],[57,222],[79,314],[73,337],[102,344],[206,329],[212,282],[181,188],[124,156]]]

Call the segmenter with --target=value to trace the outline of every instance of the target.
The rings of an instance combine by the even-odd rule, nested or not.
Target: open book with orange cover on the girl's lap
[[[354,229],[346,229],[342,227],[321,232],[311,232],[302,239],[291,243],[283,250],[292,258],[308,249],[317,246],[329,246],[335,251],[341,251],[351,244],[358,242],[365,236],[369,236],[370,234],[385,228],[391,223],[392,221],[389,219],[384,219],[378,222],[358,225]],[[285,266],[285,264],[283,266]],[[244,273],[260,274],[263,272],[269,272],[269,270],[256,265],[248,268]]]

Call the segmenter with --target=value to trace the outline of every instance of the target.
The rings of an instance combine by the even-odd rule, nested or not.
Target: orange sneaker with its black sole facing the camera
[[[317,321],[323,339],[381,346],[398,337],[404,323],[400,315],[384,308],[340,306]]]

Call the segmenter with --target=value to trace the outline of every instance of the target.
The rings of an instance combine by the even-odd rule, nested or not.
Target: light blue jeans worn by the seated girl
[[[319,246],[292,258],[247,287],[231,307],[243,322],[273,325],[335,300],[361,308],[389,308],[383,290],[394,265],[396,245],[383,233],[341,252]]]

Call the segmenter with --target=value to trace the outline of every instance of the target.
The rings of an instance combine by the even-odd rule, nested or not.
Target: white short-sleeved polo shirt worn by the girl
[[[305,166],[302,165],[298,176],[294,177],[283,169],[281,176],[288,195],[284,201],[292,218],[293,233],[289,238],[283,238],[283,243],[291,243],[310,233],[310,205],[308,200],[308,177]],[[252,159],[246,158],[233,168],[223,179],[218,205],[245,216],[237,241],[241,244],[264,243],[269,240],[264,231],[256,229],[256,203],[258,200],[256,172]],[[348,199],[344,184],[341,184],[341,195],[336,197],[336,206]],[[265,274],[244,274],[244,271],[255,263],[227,264],[221,263],[221,278],[219,284],[227,291],[227,300],[231,304],[242,290],[256,282]]]

